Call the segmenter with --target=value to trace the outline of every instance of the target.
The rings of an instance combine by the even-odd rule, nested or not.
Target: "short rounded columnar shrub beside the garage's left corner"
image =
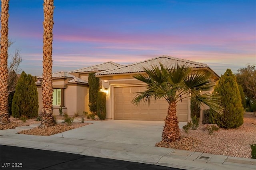
[[[97,115],[100,120],[106,119],[106,93],[98,91]]]

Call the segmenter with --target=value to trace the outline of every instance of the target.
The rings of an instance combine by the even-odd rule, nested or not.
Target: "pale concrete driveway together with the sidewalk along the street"
[[[186,123],[180,123],[180,127]],[[187,170],[256,170],[256,160],[155,147],[164,122],[94,121],[52,136],[0,130],[0,144],[156,164]]]

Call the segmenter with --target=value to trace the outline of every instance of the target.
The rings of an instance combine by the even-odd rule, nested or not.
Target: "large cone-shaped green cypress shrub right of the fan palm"
[[[224,107],[222,115],[210,109],[210,123],[216,123],[222,128],[238,128],[243,124],[243,106],[236,83],[236,77],[230,69],[220,77],[218,84],[214,88],[214,93],[218,93]]]

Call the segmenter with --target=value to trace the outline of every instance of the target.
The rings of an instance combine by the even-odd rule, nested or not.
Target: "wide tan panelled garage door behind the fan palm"
[[[136,92],[145,91],[145,86],[139,87],[115,87],[114,88],[114,119],[118,120],[144,120],[164,121],[167,115],[168,103],[165,99],[154,102],[150,105],[141,102],[135,106],[131,103]],[[177,104],[178,121],[188,121],[188,99],[183,99]]]

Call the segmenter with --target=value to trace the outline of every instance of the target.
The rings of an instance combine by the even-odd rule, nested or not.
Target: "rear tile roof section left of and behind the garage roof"
[[[105,71],[105,70],[109,70],[109,69],[119,68],[119,67],[122,67],[122,66],[123,65],[121,65],[121,64],[114,63],[112,61],[108,61],[106,63],[102,63],[102,64],[99,64],[99,65],[94,65],[94,66],[91,66],[91,67],[86,67],[86,68],[82,68],[82,69],[77,69],[77,70],[69,71],[68,73]]]

